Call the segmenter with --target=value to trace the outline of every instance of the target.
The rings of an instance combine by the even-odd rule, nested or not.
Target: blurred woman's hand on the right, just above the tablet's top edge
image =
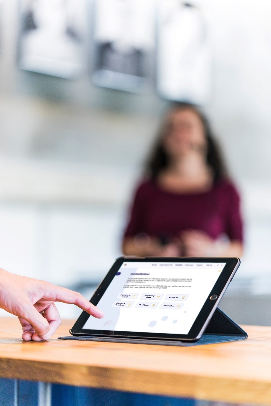
[[[218,254],[216,241],[204,231],[187,230],[181,238],[186,257],[215,257]]]

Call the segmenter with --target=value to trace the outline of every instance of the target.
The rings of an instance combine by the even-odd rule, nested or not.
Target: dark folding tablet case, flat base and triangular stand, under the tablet
[[[226,341],[245,340],[247,333],[234,323],[222,310],[216,309],[213,314],[205,333],[195,343],[189,341],[171,341],[163,339],[140,339],[140,338],[125,338],[115,336],[68,336],[59,337],[59,340],[81,340],[81,341],[107,341],[114,343],[132,343],[132,344],[155,344],[160,346],[179,346],[179,347],[193,347],[202,346],[205,344],[225,343]]]

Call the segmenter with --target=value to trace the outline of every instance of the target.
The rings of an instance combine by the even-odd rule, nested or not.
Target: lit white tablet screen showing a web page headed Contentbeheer
[[[124,262],[84,329],[188,334],[225,263]]]

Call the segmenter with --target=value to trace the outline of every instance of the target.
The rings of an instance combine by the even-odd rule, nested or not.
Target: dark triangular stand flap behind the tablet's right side
[[[219,308],[215,310],[215,313],[204,332],[204,335],[205,334],[239,335],[247,338],[247,333]]]

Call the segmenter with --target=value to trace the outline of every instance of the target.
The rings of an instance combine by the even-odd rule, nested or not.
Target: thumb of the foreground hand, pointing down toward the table
[[[22,306],[19,317],[26,320],[33,328],[39,337],[46,337],[47,333],[50,332],[50,325],[45,317],[41,315],[34,307],[33,303],[29,300]],[[43,338],[43,339],[47,339]]]

